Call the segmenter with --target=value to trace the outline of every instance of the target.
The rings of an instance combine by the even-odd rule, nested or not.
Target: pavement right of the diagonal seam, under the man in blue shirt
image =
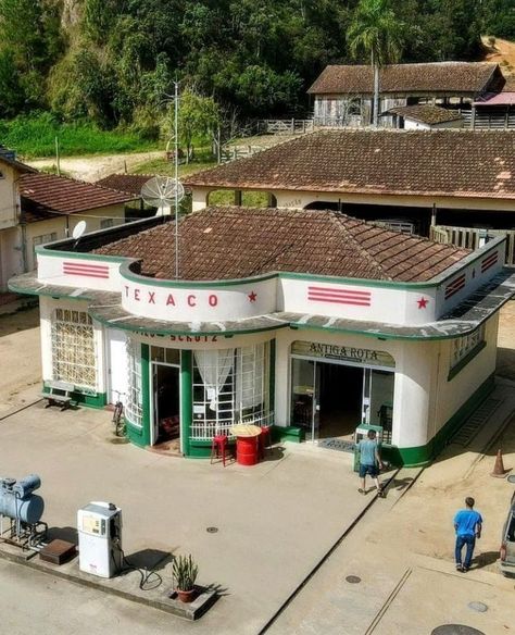
[[[500,382],[491,398],[501,403],[469,446],[449,446],[405,496],[390,488],[267,634],[428,635],[443,624],[468,625],[485,635],[515,632],[514,581],[497,568],[513,485],[490,476],[498,446],[505,468],[515,469],[513,385]],[[475,496],[485,526],[473,569],[460,574],[452,518],[468,495]],[[348,582],[349,575],[360,582]],[[478,612],[469,602],[488,610]]]

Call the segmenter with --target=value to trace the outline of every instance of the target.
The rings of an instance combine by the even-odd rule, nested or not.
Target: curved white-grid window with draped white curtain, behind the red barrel
[[[230,436],[235,423],[271,419],[268,343],[194,352],[192,438]]]

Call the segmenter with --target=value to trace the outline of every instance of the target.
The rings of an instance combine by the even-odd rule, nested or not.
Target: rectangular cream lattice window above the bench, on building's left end
[[[93,325],[86,311],[55,309],[52,320],[53,379],[97,389]]]

